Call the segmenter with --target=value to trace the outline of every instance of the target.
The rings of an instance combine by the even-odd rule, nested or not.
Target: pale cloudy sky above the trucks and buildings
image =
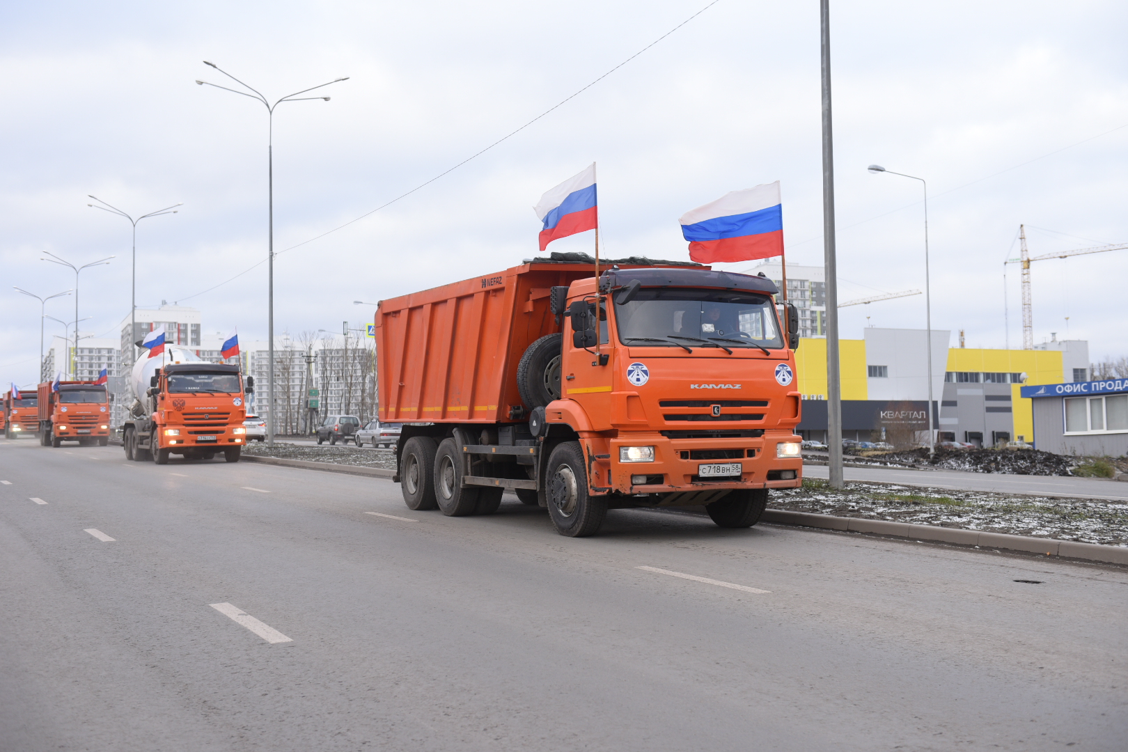
[[[275,112],[279,334],[537,255],[532,205],[592,161],[607,256],[687,259],[678,216],[779,180],[787,260],[821,264],[818,2],[711,1],[0,5],[0,382],[37,375],[39,304],[12,286],[74,286],[43,251],[114,256],[81,273],[79,318],[120,337],[131,227],[88,194],[134,215],[183,202],[138,224],[139,307],[266,337],[267,110],[197,86],[238,88],[204,60],[272,101],[349,77]],[[923,186],[879,163],[927,180],[933,327],[1021,347],[1019,225],[1031,255],[1128,240],[1125,28],[1112,0],[831,0],[839,299],[924,289]],[[1036,342],[1128,354],[1128,250],[1031,276]],[[46,312],[73,320],[74,300]],[[924,322],[916,295],[841,309],[839,331]]]

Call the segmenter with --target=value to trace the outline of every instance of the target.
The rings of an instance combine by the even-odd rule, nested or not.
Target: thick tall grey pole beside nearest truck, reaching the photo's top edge
[[[838,251],[835,247],[835,150],[830,113],[830,0],[819,0],[822,51],[822,251],[827,277],[827,460],[830,487],[841,489],[843,404],[838,362]]]

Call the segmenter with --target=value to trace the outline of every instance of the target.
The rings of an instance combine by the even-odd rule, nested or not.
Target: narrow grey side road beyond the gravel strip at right
[[[808,478],[823,478],[826,465],[803,465]],[[897,483],[906,486],[957,488],[960,490],[999,494],[1045,494],[1077,498],[1128,501],[1128,483],[1104,478],[1067,478],[1061,476],[1014,476],[962,470],[911,470],[899,468],[843,468],[846,480]]]

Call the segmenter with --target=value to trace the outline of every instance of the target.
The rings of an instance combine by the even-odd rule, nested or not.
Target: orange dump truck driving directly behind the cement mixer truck
[[[59,448],[64,441],[80,445],[109,443],[109,393],[92,381],[45,381],[39,384],[39,443]]]

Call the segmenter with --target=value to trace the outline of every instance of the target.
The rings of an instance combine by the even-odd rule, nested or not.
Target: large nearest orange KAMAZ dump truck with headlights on
[[[799,337],[776,286],[624,259],[597,289],[578,256],[380,302],[380,419],[404,424],[407,506],[488,514],[510,488],[571,537],[624,507],[755,524],[768,489],[802,483]]]

